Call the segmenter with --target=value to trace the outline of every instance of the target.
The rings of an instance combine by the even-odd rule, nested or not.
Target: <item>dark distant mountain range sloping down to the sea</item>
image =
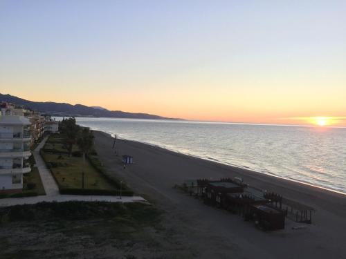
[[[109,111],[100,106],[85,106],[82,104],[65,104],[57,102],[32,102],[12,95],[2,95],[0,102],[10,102],[22,105],[41,113],[48,113],[52,116],[75,116],[75,117],[111,117],[111,118],[132,118],[132,119],[176,119],[161,117],[147,113],[127,113],[124,111]]]

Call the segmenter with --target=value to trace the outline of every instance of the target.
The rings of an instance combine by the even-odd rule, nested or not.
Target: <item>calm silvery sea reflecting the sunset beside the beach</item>
[[[76,119],[122,139],[346,193],[346,128]]]

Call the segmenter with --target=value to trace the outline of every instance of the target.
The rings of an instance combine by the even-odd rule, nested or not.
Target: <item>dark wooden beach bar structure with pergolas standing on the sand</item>
[[[274,192],[248,186],[241,178],[185,180],[183,191],[201,198],[205,204],[226,209],[253,221],[260,229],[284,229],[285,218],[311,223],[313,209]]]

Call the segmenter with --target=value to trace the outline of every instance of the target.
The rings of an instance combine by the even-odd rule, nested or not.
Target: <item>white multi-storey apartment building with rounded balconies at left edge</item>
[[[0,106],[0,193],[21,192],[30,172],[30,121],[6,104]]]

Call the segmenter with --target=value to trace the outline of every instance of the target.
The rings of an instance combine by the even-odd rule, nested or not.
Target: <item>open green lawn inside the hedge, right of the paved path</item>
[[[51,171],[58,184],[64,188],[82,189],[82,172],[84,172],[84,189],[116,189],[107,178],[96,171],[88,160],[82,157],[69,157],[67,154],[44,153],[44,160],[51,164]]]

